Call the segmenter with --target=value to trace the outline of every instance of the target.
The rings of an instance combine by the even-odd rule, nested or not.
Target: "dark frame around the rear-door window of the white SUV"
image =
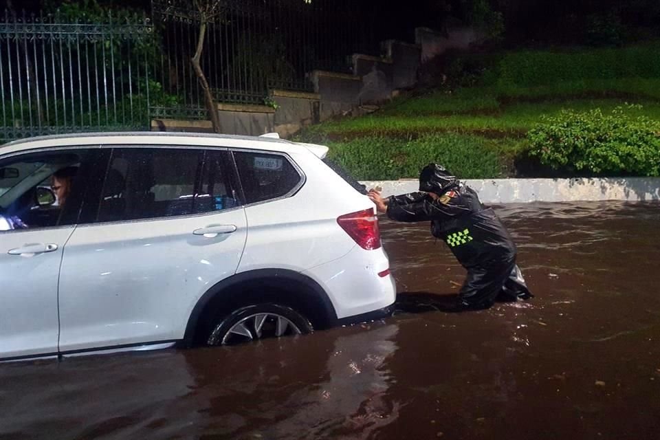
[[[230,212],[233,210],[239,210],[243,209],[244,206],[244,201],[245,197],[243,196],[243,188],[241,187],[239,177],[236,172],[236,166],[233,163],[234,159],[233,156],[230,154],[229,148],[225,146],[203,146],[203,145],[185,145],[185,144],[133,144],[133,143],[127,143],[127,144],[102,144],[100,146],[102,150],[108,150],[111,153],[109,154],[107,164],[104,167],[104,172],[103,172],[103,179],[102,179],[102,184],[100,185],[100,189],[98,194],[96,195],[96,200],[94,201],[93,205],[95,207],[94,212],[91,212],[89,214],[94,214],[94,221],[87,222],[80,224],[80,228],[85,228],[88,226],[97,226],[97,225],[115,225],[115,224],[130,224],[130,223],[142,223],[146,221],[164,221],[164,220],[180,220],[180,219],[192,219],[192,218],[197,218],[197,217],[207,217],[211,215],[218,215],[222,214],[224,212]],[[236,189],[239,192],[239,195],[241,197],[241,203],[239,203],[236,206],[233,206],[232,208],[226,208],[222,210],[214,210],[214,211],[209,211],[209,212],[198,212],[195,214],[180,214],[180,215],[165,215],[165,216],[159,216],[159,217],[146,217],[144,219],[130,219],[130,220],[112,220],[112,221],[98,221],[98,207],[100,206],[100,197],[102,193],[102,188],[105,185],[105,181],[107,179],[107,175],[110,170],[110,166],[112,164],[112,157],[115,149],[135,149],[135,150],[144,150],[144,149],[158,149],[158,150],[163,150],[163,149],[168,149],[168,150],[194,150],[194,151],[201,151],[203,153],[203,161],[206,161],[206,153],[208,151],[223,151],[225,152],[227,159],[228,159],[228,164],[227,164],[227,170],[232,173],[230,176],[230,179],[236,185]],[[197,178],[197,177],[196,177]],[[86,213],[87,214],[87,213]]]

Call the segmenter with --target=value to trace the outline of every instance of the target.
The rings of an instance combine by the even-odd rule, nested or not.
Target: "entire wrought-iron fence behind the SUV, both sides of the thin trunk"
[[[201,60],[218,102],[267,103],[311,90],[313,69],[350,72],[378,47],[375,17],[352,0],[217,0]],[[355,4],[357,3],[357,4]],[[95,23],[58,14],[0,16],[0,141],[76,131],[148,129],[153,118],[208,119],[190,58],[199,12],[152,0],[152,19]]]

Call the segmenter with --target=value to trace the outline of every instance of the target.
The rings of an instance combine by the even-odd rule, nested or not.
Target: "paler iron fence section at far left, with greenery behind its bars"
[[[148,19],[0,18],[0,140],[148,126]]]

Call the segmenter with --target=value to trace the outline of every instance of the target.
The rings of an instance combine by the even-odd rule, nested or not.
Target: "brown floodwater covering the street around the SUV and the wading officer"
[[[382,222],[392,318],[243,347],[0,364],[0,439],[658,439],[660,205],[498,208],[536,298]]]

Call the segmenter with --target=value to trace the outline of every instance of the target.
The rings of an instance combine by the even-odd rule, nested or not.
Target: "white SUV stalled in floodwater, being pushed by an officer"
[[[395,284],[373,203],[327,150],[183,133],[1,146],[0,359],[386,316]]]

